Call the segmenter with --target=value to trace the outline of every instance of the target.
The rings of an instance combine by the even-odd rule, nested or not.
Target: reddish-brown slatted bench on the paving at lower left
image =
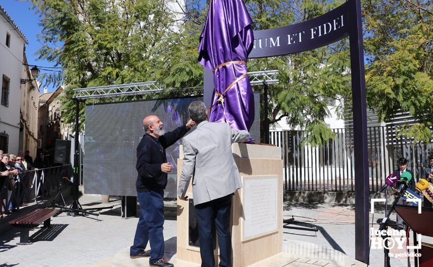
[[[19,234],[19,242],[17,244],[32,244],[31,242],[29,242],[29,231],[41,224],[42,222],[44,223],[43,227],[49,227],[51,224],[51,217],[54,216],[57,212],[59,212],[59,210],[54,208],[36,209],[24,216],[10,221],[9,224],[21,229],[21,233]]]

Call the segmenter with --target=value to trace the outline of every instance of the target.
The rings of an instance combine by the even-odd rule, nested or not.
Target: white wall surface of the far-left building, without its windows
[[[0,132],[9,134],[8,153],[18,152],[20,79],[25,41],[5,17],[0,20],[0,93],[3,75],[10,79],[9,106],[0,104]],[[10,47],[6,46],[6,32],[10,34]],[[0,95],[1,97],[1,95]]]

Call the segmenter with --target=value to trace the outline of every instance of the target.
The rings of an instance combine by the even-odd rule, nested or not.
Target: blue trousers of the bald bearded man
[[[144,250],[150,242],[150,263],[154,263],[164,256],[164,191],[137,192],[140,203],[140,219],[135,231],[134,245],[130,254],[135,255]]]

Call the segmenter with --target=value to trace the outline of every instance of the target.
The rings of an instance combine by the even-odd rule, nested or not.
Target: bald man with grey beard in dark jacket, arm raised
[[[167,185],[167,173],[173,167],[167,163],[165,149],[185,135],[195,122],[191,119],[186,125],[172,132],[164,133],[162,121],[151,115],[143,120],[145,134],[137,147],[137,197],[140,203],[140,219],[135,231],[134,245],[131,246],[131,258],[150,257],[150,266],[172,267],[164,258],[164,188]],[[145,251],[150,241],[150,252]]]

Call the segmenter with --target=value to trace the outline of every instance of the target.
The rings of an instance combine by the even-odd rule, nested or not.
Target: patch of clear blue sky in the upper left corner
[[[35,15],[35,11],[30,9],[31,3],[28,1],[19,0],[0,0],[0,5],[11,17],[18,28],[29,40],[29,44],[26,45],[26,56],[27,62],[30,65],[37,65],[41,67],[54,67],[54,63],[46,60],[37,60],[36,51],[42,46],[37,40],[37,34],[42,31],[42,27],[38,24],[40,22],[39,15]],[[41,70],[41,72],[44,72]],[[40,88],[42,91],[42,86]],[[54,87],[48,87],[48,92],[54,91]]]

